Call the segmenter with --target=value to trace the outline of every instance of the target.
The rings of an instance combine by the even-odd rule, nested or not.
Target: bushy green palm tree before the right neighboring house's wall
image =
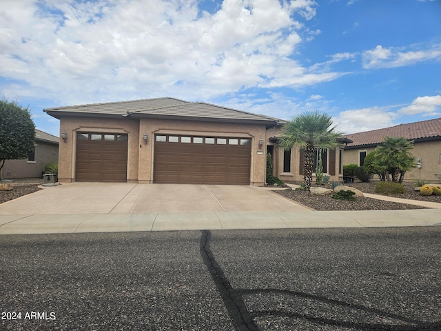
[[[367,154],[365,170],[378,174],[381,181],[402,183],[404,174],[416,167],[412,148],[412,142],[404,137],[385,137],[376,150]]]

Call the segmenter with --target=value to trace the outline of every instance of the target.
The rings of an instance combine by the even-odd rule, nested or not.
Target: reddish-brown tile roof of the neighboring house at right
[[[409,140],[429,139],[433,137],[440,137],[441,139],[441,118],[346,134],[345,137],[353,141],[353,143],[349,143],[347,147],[378,144],[384,137],[405,137]]]

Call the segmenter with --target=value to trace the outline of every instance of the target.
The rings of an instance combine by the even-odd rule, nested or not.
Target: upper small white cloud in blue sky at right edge
[[[411,46],[410,48],[422,48],[421,50],[404,50],[402,48],[384,48],[381,45],[373,50],[362,53],[363,67],[372,68],[396,68],[410,66],[423,61],[441,61],[441,45]]]

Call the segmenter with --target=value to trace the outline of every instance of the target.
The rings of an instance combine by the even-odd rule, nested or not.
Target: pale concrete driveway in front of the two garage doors
[[[246,185],[132,183],[63,183],[0,205],[0,215],[300,210],[308,208]]]

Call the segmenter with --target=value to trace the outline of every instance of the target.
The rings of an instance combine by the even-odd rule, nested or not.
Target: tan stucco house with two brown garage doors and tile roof
[[[60,120],[59,181],[263,185],[274,174],[301,181],[298,150],[274,143],[285,123],[259,114],[174,98],[45,109]],[[340,150],[327,154],[338,178]]]

